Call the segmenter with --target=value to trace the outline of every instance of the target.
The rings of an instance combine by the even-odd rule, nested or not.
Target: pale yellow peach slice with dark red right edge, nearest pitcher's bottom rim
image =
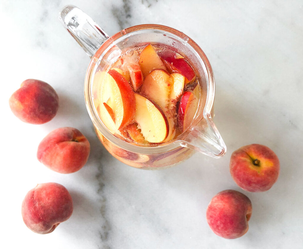
[[[169,124],[162,109],[151,100],[135,93],[135,121],[146,141],[160,143],[168,136]]]

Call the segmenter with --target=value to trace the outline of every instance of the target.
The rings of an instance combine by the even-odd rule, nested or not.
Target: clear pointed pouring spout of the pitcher
[[[194,149],[214,158],[226,153],[226,145],[209,113],[203,115],[202,120],[188,131],[185,138],[176,142],[182,147]]]

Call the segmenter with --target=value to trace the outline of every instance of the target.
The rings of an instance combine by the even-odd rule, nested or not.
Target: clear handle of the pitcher
[[[59,19],[91,58],[109,37],[92,18],[74,5],[66,5],[59,12]]]

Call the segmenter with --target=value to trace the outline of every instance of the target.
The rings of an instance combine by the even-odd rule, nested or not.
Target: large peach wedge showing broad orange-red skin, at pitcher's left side
[[[116,70],[109,70],[103,83],[104,91],[102,92],[101,101],[112,109],[116,129],[122,129],[134,121],[136,112],[134,92],[125,77]],[[106,100],[106,98],[108,99]],[[105,109],[108,111],[110,109],[107,106],[105,106]],[[111,111],[108,114],[111,116]],[[101,119],[102,115],[103,113],[101,113]]]

